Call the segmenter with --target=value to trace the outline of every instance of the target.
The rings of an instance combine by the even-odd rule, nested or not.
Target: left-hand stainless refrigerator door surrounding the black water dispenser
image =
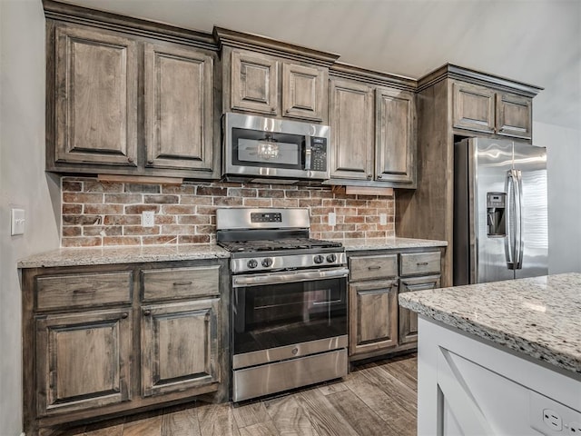
[[[469,144],[475,153],[474,168],[468,171],[472,173],[469,177],[473,193],[471,220],[476,238],[472,282],[510,280],[515,278],[515,273],[507,267],[507,236],[488,234],[487,193],[506,192],[507,173],[512,168],[512,142],[475,138],[469,140]]]

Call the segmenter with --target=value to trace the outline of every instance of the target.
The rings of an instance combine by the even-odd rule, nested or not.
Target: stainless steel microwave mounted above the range
[[[228,113],[223,115],[222,126],[222,174],[227,180],[329,179],[328,125]]]

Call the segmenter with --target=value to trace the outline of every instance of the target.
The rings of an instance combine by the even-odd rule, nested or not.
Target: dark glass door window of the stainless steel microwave
[[[305,136],[248,129],[232,129],[232,160],[246,166],[268,166],[300,170],[303,167]]]

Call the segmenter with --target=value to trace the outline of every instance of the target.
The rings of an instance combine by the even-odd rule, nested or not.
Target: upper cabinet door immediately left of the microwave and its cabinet
[[[212,173],[212,55],[146,44],[144,79],[146,166]]]

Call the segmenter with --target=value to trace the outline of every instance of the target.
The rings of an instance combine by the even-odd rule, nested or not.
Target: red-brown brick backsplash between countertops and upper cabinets
[[[216,208],[306,207],[310,236],[319,239],[373,238],[395,234],[394,197],[334,193],[329,186],[251,183],[183,183],[180,186],[102,183],[63,177],[63,247],[213,243]],[[142,212],[153,211],[153,227]],[[328,214],[337,215],[329,225]],[[386,213],[387,225],[379,223]]]

